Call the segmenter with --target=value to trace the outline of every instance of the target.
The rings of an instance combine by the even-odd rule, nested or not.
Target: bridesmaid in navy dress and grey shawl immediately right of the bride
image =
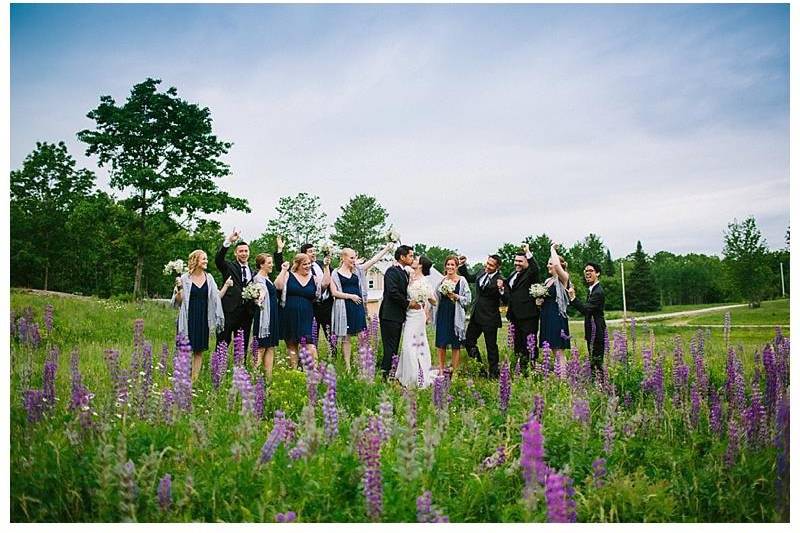
[[[466,338],[467,306],[472,300],[469,283],[458,275],[458,257],[451,255],[444,262],[445,276],[436,288],[438,305],[434,314],[436,351],[439,371],[444,373],[445,352],[452,349],[453,372],[461,361],[461,343]]]

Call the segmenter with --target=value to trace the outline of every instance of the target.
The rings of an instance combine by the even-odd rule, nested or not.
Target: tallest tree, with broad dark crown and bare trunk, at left
[[[87,115],[96,128],[78,132],[88,145],[86,155],[109,168],[110,185],[129,194],[123,203],[136,213],[137,297],[145,257],[172,230],[163,220],[153,223],[159,215],[189,228],[201,215],[250,211],[246,200],[217,186],[215,180],[229,174],[220,157],[231,143],[213,134],[209,109],[182,100],[175,87],[159,92],[160,83],[148,78],[135,85],[122,105],[101,96]]]

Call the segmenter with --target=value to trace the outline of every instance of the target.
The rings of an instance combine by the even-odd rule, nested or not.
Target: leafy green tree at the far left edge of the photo
[[[11,172],[11,282],[50,288],[54,266],[67,242],[63,221],[94,186],[95,176],[77,169],[63,142],[36,143]],[[56,283],[56,288],[61,288]]]

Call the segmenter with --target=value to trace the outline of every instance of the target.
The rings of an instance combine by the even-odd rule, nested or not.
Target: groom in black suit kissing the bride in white
[[[378,311],[383,341],[381,370],[384,379],[389,377],[392,369],[392,356],[399,355],[400,334],[406,321],[406,310],[420,309],[418,302],[408,300],[409,276],[403,268],[414,262],[414,250],[402,244],[395,250],[394,258],[397,263],[389,267],[383,275],[383,300]]]

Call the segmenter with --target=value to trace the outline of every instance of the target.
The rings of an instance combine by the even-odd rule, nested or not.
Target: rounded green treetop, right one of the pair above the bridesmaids
[[[361,257],[372,257],[386,243],[389,213],[372,196],[358,194],[342,206],[333,223],[333,242],[350,247]]]

